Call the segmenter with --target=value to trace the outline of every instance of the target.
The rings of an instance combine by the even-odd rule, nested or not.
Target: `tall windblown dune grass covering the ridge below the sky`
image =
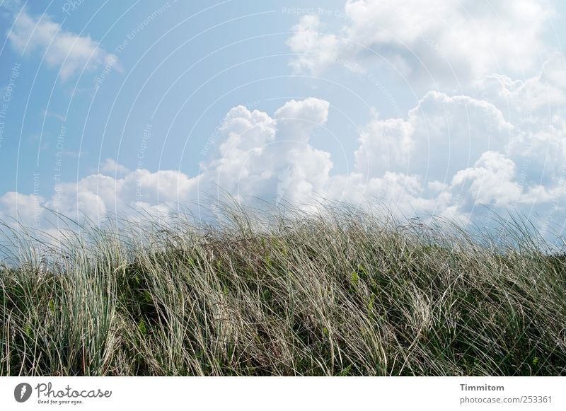
[[[529,224],[354,207],[12,231],[2,376],[566,375],[566,258]]]

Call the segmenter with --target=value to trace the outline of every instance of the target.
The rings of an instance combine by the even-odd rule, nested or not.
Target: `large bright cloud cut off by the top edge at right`
[[[318,16],[304,16],[287,44],[299,54],[297,71],[318,72],[339,57],[355,66],[386,61],[440,83],[468,81],[540,66],[553,15],[539,0],[347,0],[340,32],[324,33]]]

